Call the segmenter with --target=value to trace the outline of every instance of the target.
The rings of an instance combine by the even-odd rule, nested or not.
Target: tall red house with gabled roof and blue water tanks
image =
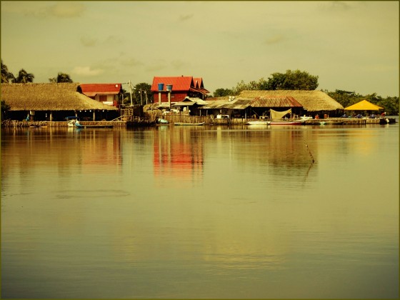
[[[209,91],[204,88],[202,78],[192,76],[154,77],[151,85],[154,103],[168,102],[170,87],[171,102],[180,102],[186,97],[205,99],[209,94]]]

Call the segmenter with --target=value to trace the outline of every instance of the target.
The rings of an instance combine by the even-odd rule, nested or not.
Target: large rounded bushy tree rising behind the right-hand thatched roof
[[[273,73],[265,85],[268,90],[286,89],[314,91],[318,87],[318,76],[306,71],[287,70],[285,74]]]

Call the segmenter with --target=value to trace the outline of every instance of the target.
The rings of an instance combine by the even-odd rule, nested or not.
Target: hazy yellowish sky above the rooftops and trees
[[[1,1],[0,45],[36,83],[184,75],[212,94],[299,69],[317,89],[399,96],[399,1]]]

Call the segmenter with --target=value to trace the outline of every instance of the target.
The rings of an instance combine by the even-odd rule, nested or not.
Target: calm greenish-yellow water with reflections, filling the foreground
[[[1,297],[397,299],[399,124],[2,129]]]

